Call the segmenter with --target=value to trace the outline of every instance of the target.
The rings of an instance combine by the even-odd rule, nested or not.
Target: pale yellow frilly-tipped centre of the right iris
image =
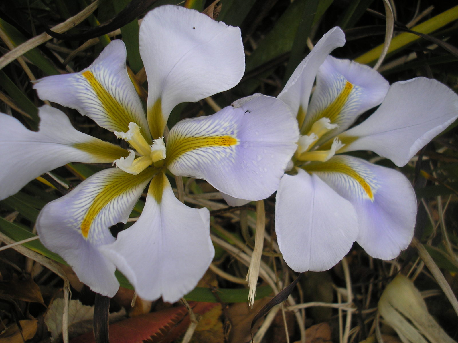
[[[298,148],[295,153],[296,160],[326,162],[333,157],[336,151],[344,146],[337,138],[333,140],[333,145],[329,150],[312,150],[312,148],[314,148],[318,139],[337,127],[338,125],[331,124],[329,118],[321,118],[313,123],[309,132],[304,136],[300,136]]]

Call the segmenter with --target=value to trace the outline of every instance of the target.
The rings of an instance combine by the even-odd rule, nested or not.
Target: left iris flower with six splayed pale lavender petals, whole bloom
[[[164,143],[167,119],[177,104],[239,82],[245,69],[240,29],[167,5],[145,16],[139,38],[149,85],[146,116],[120,40],[87,69],[34,85],[41,99],[77,109],[130,149],[77,131],[64,113],[49,106],[39,109],[38,132],[1,114],[0,198],[71,161],[113,163],[44,206],[36,223],[40,239],[95,292],[116,293],[118,268],[142,298],[173,302],[195,287],[214,249],[209,211],[175,198],[165,172],[204,178],[233,197],[266,198],[278,187],[299,132],[283,102],[256,96],[177,123]],[[109,227],[126,222],[148,182],[140,218],[115,239]]]

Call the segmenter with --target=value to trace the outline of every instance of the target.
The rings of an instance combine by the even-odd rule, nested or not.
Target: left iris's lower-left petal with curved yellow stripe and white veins
[[[127,221],[152,176],[151,168],[138,175],[99,171],[38,215],[43,245],[64,258],[94,292],[112,297],[119,288],[116,267],[98,249],[114,241],[109,227]]]

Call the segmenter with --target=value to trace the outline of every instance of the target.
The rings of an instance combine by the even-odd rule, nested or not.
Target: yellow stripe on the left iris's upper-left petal
[[[97,80],[95,75],[91,70],[86,70],[82,73],[82,76],[89,82],[89,85],[93,89],[98,100],[102,104],[104,111],[107,113],[111,123],[114,126],[115,131],[127,132],[129,129],[129,123],[136,123],[137,120],[126,107],[124,107],[120,102],[118,102]],[[147,137],[144,129],[142,128],[142,134],[144,137]]]

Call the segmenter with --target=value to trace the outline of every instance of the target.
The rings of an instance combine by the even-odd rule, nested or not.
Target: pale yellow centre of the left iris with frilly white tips
[[[164,137],[154,139],[153,144],[149,145],[140,133],[140,127],[136,123],[129,123],[129,131],[114,131],[114,134],[116,137],[124,139],[136,150],[129,150],[129,156],[120,157],[113,162],[113,165],[127,173],[136,175],[153,163],[165,158]]]

